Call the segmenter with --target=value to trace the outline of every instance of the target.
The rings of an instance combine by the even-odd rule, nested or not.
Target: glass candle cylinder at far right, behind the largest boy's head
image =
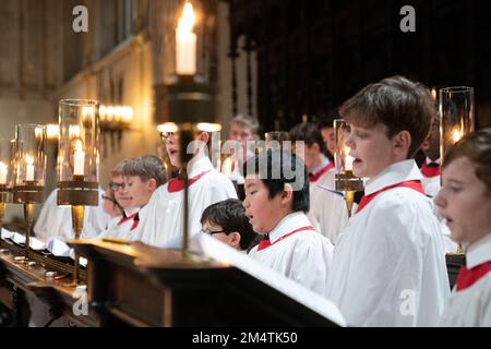
[[[466,86],[440,89],[440,158],[445,161],[448,148],[474,131],[474,88]]]

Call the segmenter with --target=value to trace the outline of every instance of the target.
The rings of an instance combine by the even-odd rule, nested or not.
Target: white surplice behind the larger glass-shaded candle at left
[[[72,210],[70,207],[57,205],[57,192],[53,190],[43,204],[39,217],[34,226],[37,238],[47,241],[50,238],[70,240],[74,238],[72,228]],[[99,193],[104,191],[99,189]],[[103,201],[98,206],[85,206],[83,239],[95,238],[107,227],[110,216],[104,212]]]

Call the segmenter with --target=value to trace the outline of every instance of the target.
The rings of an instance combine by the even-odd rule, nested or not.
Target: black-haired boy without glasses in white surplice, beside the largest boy
[[[267,234],[249,255],[261,264],[325,294],[333,245],[306,216],[309,180],[303,163],[289,152],[266,151],[244,165],[246,215]]]

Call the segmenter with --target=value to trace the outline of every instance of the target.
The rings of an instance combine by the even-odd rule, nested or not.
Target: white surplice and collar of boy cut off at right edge
[[[466,266],[472,269],[491,262],[491,232],[468,246]],[[491,327],[491,270],[468,288],[454,287],[445,313],[443,326]]]

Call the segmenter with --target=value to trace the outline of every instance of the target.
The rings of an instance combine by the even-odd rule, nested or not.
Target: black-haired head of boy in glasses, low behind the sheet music
[[[252,229],[242,202],[228,198],[209,205],[201,216],[202,232],[247,252],[258,233]]]

